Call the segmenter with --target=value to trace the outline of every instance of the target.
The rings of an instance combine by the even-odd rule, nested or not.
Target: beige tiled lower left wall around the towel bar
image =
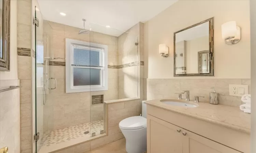
[[[19,86],[19,80],[0,80],[0,89]],[[9,153],[20,153],[20,89],[0,93],[0,147]],[[21,133],[24,135],[24,131]],[[23,137],[22,137],[23,138]],[[24,144],[24,143],[23,143]]]

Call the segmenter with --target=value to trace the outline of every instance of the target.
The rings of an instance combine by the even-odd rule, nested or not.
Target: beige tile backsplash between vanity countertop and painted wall
[[[218,102],[223,105],[238,106],[242,104],[241,97],[229,96],[229,84],[248,85],[250,94],[251,79],[145,79],[146,99],[174,98],[181,90],[190,91],[190,100],[194,100],[194,96],[200,97],[200,102],[209,102],[209,93],[211,87],[215,87],[218,93]],[[182,94],[185,99],[185,95]]]

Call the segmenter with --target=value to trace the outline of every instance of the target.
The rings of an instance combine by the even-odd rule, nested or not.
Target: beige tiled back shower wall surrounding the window
[[[81,29],[44,20],[44,35],[48,38],[48,55],[65,58],[65,38],[108,45],[109,67],[117,65],[117,37],[97,32],[78,35]],[[55,60],[56,61],[56,60]],[[49,63],[49,77],[57,79],[57,87],[49,90],[47,104],[44,106],[44,131],[56,130],[76,124],[103,119],[103,104],[90,107],[92,95],[104,95],[104,101],[118,99],[118,69],[109,68],[109,89],[66,93],[65,61]],[[91,112],[91,114],[90,114]]]

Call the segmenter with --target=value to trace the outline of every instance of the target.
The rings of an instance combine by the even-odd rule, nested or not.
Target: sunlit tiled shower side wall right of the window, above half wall
[[[140,71],[143,72],[144,66],[143,26],[143,23],[139,22],[127,30],[128,33],[118,37],[118,99],[138,97],[138,91],[140,92],[138,75],[143,78]],[[135,42],[138,42],[138,46]]]

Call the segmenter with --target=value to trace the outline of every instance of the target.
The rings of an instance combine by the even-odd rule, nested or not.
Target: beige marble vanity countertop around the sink
[[[175,98],[165,98],[172,99],[173,101],[184,101],[176,100]],[[147,100],[145,101],[148,105],[153,105],[160,107],[175,113],[180,113],[183,115],[191,116],[200,120],[207,122],[212,122],[225,126],[226,128],[231,128],[243,133],[251,133],[251,114],[242,112],[239,107],[227,106],[227,105],[214,105],[210,103],[199,102],[199,106],[194,108],[186,108],[181,106],[172,106],[160,102],[161,99]],[[188,101],[185,101],[188,102]],[[189,101],[193,103],[194,101]]]

